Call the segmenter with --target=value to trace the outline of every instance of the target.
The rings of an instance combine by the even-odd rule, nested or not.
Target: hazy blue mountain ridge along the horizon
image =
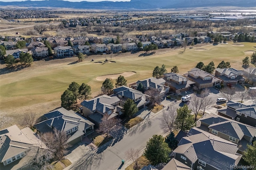
[[[20,7],[55,7],[55,8],[75,8],[75,9],[170,9],[170,8],[196,8],[215,6],[256,6],[255,0],[130,0],[130,2],[69,2],[63,0],[42,0],[22,2],[1,2],[0,6],[20,6]]]

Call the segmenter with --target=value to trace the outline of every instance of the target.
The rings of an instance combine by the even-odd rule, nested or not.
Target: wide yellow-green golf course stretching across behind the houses
[[[186,49],[184,54],[179,54],[182,48],[159,49],[155,54],[138,57],[144,53],[118,53],[113,54],[112,61],[116,63],[104,63],[110,55],[90,55],[84,61],[76,63],[76,57],[66,59],[54,59],[50,61],[35,61],[31,67],[20,71],[10,72],[4,64],[0,65],[0,107],[1,114],[7,114],[13,118],[14,124],[18,122],[20,115],[36,113],[39,116],[60,107],[60,96],[72,81],[87,83],[92,87],[92,95],[100,94],[103,81],[96,77],[108,74],[118,74],[128,71],[134,75],[126,77],[127,85],[152,76],[154,67],[166,65],[170,69],[177,65],[180,74],[192,69],[199,61],[208,64],[214,61],[215,66],[222,60],[230,61],[231,67],[242,69],[242,59],[250,54],[244,51],[255,50],[255,43],[242,43],[244,46],[233,46],[233,42],[227,44],[195,45],[192,49]],[[195,49],[206,49],[196,51]],[[91,62],[91,59],[94,59]],[[102,62],[94,64],[94,62]],[[113,79],[115,81],[115,79]]]

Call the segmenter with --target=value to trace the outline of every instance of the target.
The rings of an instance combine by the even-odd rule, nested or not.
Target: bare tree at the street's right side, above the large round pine
[[[169,109],[165,110],[159,118],[161,121],[160,127],[164,130],[164,132],[172,132],[172,127],[174,126],[174,121],[177,116],[176,109],[170,105],[168,107]]]

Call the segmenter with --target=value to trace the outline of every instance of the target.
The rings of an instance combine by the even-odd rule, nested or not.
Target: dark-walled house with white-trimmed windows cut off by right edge
[[[227,107],[219,109],[218,115],[256,127],[256,105],[244,105],[228,101]]]

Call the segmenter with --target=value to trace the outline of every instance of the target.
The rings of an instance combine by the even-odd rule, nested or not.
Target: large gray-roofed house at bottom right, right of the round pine
[[[211,133],[192,128],[171,156],[193,170],[231,170],[242,158],[237,144]]]

